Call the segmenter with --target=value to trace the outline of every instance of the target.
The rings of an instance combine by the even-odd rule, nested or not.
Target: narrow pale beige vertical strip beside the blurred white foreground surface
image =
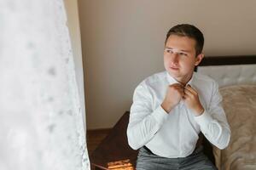
[[[73,59],[76,70],[76,79],[79,86],[80,102],[84,104],[84,73],[81,49],[81,35],[79,25],[79,6],[77,0],[64,0],[67,11],[67,26],[71,38],[71,45],[73,48]],[[81,110],[84,113],[84,105],[81,105]],[[85,122],[85,114],[83,114]]]

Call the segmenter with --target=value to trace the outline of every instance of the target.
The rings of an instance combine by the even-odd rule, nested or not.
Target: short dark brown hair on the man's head
[[[195,42],[196,42],[195,56],[201,54],[204,46],[204,35],[195,26],[192,26],[189,24],[181,24],[181,25],[173,26],[166,34],[166,42],[168,37],[170,37],[171,35],[176,35],[181,37],[190,37],[195,39]]]

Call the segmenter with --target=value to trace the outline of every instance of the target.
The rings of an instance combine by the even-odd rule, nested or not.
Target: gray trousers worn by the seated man
[[[199,146],[187,157],[166,158],[154,155],[144,147],[139,150],[137,156],[137,170],[217,170],[207,156],[203,153],[203,147]]]

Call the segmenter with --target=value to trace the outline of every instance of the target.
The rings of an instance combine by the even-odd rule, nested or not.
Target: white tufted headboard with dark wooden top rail
[[[195,70],[212,77],[219,87],[256,84],[256,55],[205,57]]]

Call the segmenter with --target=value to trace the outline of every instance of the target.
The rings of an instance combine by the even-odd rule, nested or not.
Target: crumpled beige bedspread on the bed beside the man
[[[219,170],[256,169],[256,85],[220,88],[230,123],[231,139],[224,150],[213,148]]]

